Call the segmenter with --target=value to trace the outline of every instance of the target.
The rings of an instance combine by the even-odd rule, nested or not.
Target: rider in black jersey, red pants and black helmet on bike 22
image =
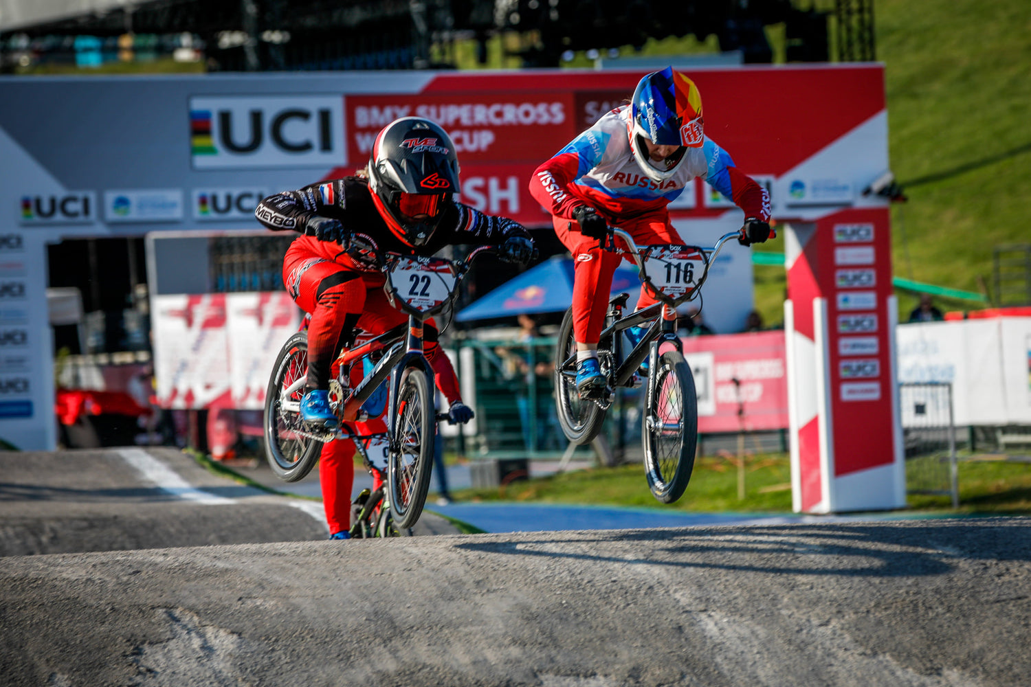
[[[353,344],[356,328],[377,335],[407,323],[390,305],[385,277],[373,260],[344,251],[353,234],[371,237],[381,251],[433,255],[455,244],[497,245],[507,262],[525,265],[533,252],[529,232],[507,217],[487,215],[455,201],[459,162],[451,137],[437,124],[402,117],[377,135],[368,166],[353,176],[313,183],[264,199],[255,210],[272,231],[301,234],[287,250],[282,281],[310,315],[308,373],[301,415],[306,422],[336,427],[329,405],[331,365]],[[437,344],[433,320],[426,327],[426,354],[436,385],[450,404],[453,422],[468,422],[455,370]],[[380,410],[381,412],[381,410]],[[332,440],[320,455],[320,482],[330,539],[346,539],[351,522],[355,447]]]

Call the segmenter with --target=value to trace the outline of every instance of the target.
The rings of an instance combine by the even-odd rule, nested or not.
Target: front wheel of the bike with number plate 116
[[[657,368],[644,400],[644,472],[655,497],[671,504],[688,487],[695,466],[698,399],[684,355],[666,351]]]

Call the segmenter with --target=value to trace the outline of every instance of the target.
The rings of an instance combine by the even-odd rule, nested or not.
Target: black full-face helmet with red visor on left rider
[[[426,245],[461,191],[451,136],[423,117],[401,117],[379,132],[368,175],[372,202],[384,221],[413,247]]]

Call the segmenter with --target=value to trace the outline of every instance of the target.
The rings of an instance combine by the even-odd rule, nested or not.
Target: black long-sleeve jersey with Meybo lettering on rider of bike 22
[[[484,214],[463,203],[448,203],[440,224],[424,246],[412,248],[388,228],[372,203],[367,179],[346,176],[342,179],[313,183],[298,191],[285,191],[269,196],[258,204],[255,216],[272,231],[291,230],[305,234],[312,217],[337,219],[350,234],[366,234],[380,250],[402,254],[432,255],[448,245],[500,245],[512,236],[530,238],[519,222],[507,217]],[[340,246],[319,241],[313,236],[301,236],[308,247],[327,260],[341,262]]]

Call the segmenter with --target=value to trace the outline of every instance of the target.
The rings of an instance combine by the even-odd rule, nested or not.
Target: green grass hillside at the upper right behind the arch
[[[982,291],[996,245],[1031,243],[1031,3],[878,0],[875,11],[891,164],[909,198],[892,213],[895,275]]]

